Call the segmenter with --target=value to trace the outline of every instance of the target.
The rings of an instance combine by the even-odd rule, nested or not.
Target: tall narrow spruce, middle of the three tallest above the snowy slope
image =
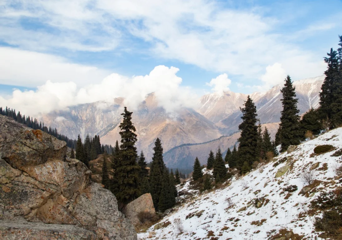
[[[295,87],[288,75],[285,79],[285,85],[280,90],[282,93],[283,110],[281,111],[280,127],[281,127],[281,152],[287,150],[290,145],[300,144],[303,132],[299,125],[299,110],[297,108],[298,99],[295,98]]]

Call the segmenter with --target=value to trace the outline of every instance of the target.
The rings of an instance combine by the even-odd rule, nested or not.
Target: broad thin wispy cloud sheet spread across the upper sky
[[[248,78],[258,79],[274,62],[293,79],[325,70],[321,53],[304,50],[296,38],[280,34],[281,21],[265,17],[258,8],[227,9],[207,0],[18,0],[19,11],[11,2],[0,9],[0,40],[25,49],[107,51],[127,48],[133,36],[152,47],[141,50],[138,44],[132,51]],[[19,21],[23,16],[35,16],[58,34],[24,28]],[[320,24],[321,30],[337,27]],[[303,31],[315,29],[304,26]]]

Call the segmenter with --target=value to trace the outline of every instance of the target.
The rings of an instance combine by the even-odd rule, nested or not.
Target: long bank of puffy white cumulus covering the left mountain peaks
[[[189,87],[180,86],[182,79],[176,75],[175,67],[159,65],[148,75],[127,77],[117,73],[110,74],[98,84],[78,88],[74,82],[53,83],[47,81],[37,91],[16,89],[9,98],[0,97],[0,105],[11,106],[25,114],[38,116],[53,110],[67,109],[68,106],[105,101],[113,103],[114,98],[123,97],[124,104],[131,110],[145,100],[146,95],[154,93],[159,106],[169,113],[181,107],[193,107],[197,96]],[[106,104],[101,105],[102,108]]]

